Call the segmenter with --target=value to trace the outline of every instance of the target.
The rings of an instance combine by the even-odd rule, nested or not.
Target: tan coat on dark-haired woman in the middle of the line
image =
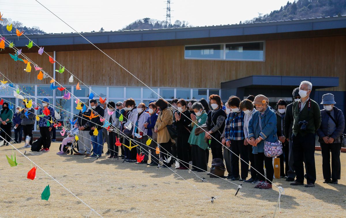
[[[164,109],[158,114],[155,128],[157,128],[157,143],[166,143],[171,139],[171,142],[175,142],[171,138],[170,133],[167,130],[167,125],[173,123],[173,110],[171,107]]]

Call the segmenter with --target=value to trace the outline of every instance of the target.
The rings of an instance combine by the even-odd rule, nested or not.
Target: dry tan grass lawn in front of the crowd
[[[237,196],[237,186],[188,170],[175,170],[122,163],[102,156],[98,160],[73,155],[58,156],[60,143],[52,143],[50,152],[35,152],[15,145],[48,174],[70,189],[102,217],[273,217],[278,198],[273,190],[254,189],[243,184]],[[11,146],[0,147],[0,217],[97,217],[81,201],[37,169],[36,179],[27,179],[34,167],[27,158],[17,155],[23,165],[10,167],[5,154]],[[284,179],[274,179],[282,186],[281,214],[276,217],[345,217],[346,216],[346,153],[341,154],[342,178],[338,185],[323,184],[322,156],[316,151],[316,187],[292,187]],[[209,161],[209,166],[211,160]],[[189,183],[191,184],[189,184]],[[240,183],[239,181],[237,183]],[[51,196],[41,200],[49,184]],[[200,191],[198,191],[198,190]],[[201,192],[203,194],[201,194]],[[202,202],[207,197],[218,198],[214,203]]]

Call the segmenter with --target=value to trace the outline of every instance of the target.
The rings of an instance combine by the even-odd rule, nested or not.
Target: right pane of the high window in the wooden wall
[[[264,42],[226,44],[225,59],[264,60]]]

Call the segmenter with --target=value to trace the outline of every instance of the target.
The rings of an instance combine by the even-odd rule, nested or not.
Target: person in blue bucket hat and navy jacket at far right
[[[322,96],[321,126],[317,130],[318,141],[322,150],[322,172],[324,183],[338,184],[341,174],[340,149],[341,136],[345,129],[343,112],[335,107],[334,95]],[[331,152],[331,172],[330,172]]]

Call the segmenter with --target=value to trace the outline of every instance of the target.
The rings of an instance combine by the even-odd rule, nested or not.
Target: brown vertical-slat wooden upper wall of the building
[[[185,60],[183,46],[103,51],[150,87],[220,88],[220,82],[252,75],[330,76],[339,77],[339,87],[326,90],[346,91],[346,36],[267,40],[265,50],[264,62]],[[53,74],[47,56],[28,55]],[[56,60],[86,85],[144,86],[98,50],[60,51]],[[49,83],[37,80],[34,68],[31,73],[25,73],[24,68],[24,63],[0,54],[0,71],[14,82]],[[58,82],[71,84],[67,70],[56,73]]]

